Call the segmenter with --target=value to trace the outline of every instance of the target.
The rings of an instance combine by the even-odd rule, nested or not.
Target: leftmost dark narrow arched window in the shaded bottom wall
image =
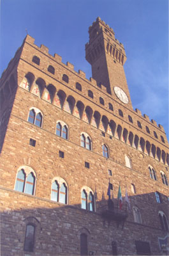
[[[26,252],[33,252],[34,232],[35,232],[34,225],[28,224],[26,226],[26,237],[25,237],[25,243],[24,243],[24,251]]]

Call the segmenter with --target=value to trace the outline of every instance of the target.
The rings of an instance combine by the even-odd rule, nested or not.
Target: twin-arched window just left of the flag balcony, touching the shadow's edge
[[[88,187],[84,187],[81,192],[81,208],[94,212],[94,193]]]

